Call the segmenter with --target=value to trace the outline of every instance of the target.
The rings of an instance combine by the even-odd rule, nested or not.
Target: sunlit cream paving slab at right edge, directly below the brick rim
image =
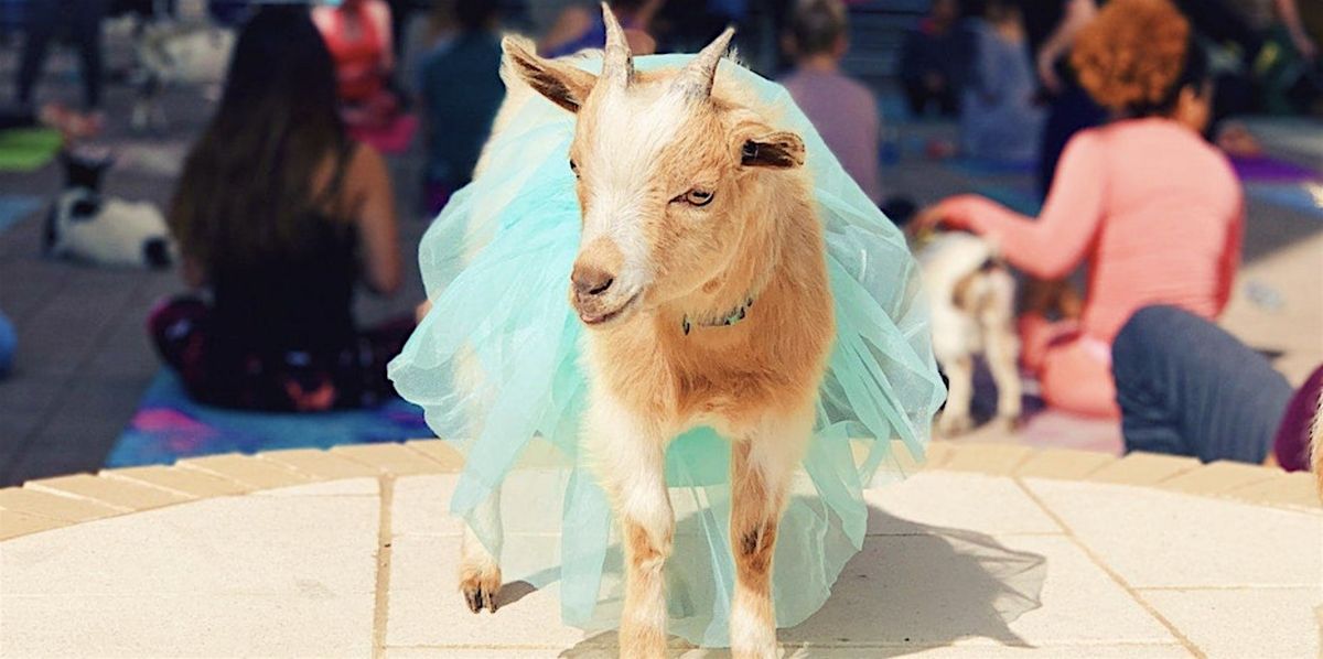
[[[1323,582],[1320,515],[1148,487],[1024,483],[1135,588]]]

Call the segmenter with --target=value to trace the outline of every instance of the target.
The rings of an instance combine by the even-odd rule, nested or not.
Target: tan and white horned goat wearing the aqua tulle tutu
[[[507,73],[577,118],[582,233],[569,298],[587,328],[583,443],[626,557],[620,654],[664,655],[675,515],[663,455],[710,426],[732,443],[732,650],[771,656],[777,527],[835,333],[804,144],[718,71],[732,30],[680,70],[644,73],[603,13],[601,75],[521,38],[503,45]],[[470,606],[491,606],[495,558],[466,537],[463,565]]]

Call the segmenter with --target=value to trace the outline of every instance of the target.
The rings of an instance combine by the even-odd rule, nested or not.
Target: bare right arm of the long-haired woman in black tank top
[[[360,144],[345,184],[356,204],[355,224],[363,246],[363,277],[373,292],[400,290],[400,228],[386,163],[372,147]]]

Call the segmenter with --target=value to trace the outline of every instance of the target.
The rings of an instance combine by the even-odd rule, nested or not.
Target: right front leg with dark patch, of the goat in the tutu
[[[771,561],[790,480],[812,431],[812,410],[766,419],[730,447],[730,548],[736,593],[730,605],[730,654],[777,655]]]

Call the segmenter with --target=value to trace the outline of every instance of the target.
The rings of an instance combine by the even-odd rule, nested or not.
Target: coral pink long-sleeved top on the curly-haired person
[[[1037,220],[966,195],[947,226],[992,240],[1043,279],[1088,261],[1082,328],[1111,344],[1130,315],[1174,304],[1213,319],[1240,262],[1244,196],[1226,159],[1170,119],[1131,119],[1077,134]]]

